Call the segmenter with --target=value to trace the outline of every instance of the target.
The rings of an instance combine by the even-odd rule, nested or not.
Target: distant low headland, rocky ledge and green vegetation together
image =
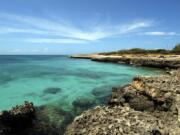
[[[177,44],[172,50],[132,48],[114,52],[72,55],[70,57],[134,66],[177,69],[180,68],[180,45]]]

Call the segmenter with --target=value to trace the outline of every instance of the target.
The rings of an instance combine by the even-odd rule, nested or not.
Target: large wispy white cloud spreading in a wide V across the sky
[[[152,26],[152,21],[137,21],[128,24],[117,25],[97,25],[87,26],[84,30],[69,23],[57,22],[43,18],[0,14],[1,19],[8,19],[26,28],[0,27],[0,34],[7,33],[25,33],[39,34],[48,36],[58,36],[58,39],[27,39],[32,43],[86,43],[87,41],[96,41],[116,35],[127,34],[142,28]]]

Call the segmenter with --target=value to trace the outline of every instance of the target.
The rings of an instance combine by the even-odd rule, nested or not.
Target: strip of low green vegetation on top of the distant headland
[[[180,54],[180,44],[177,44],[172,50],[166,49],[141,49],[132,48],[127,50],[119,50],[114,52],[100,53],[102,55],[123,55],[123,54]]]

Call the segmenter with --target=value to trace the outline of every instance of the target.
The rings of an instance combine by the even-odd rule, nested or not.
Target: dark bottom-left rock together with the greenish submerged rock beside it
[[[0,135],[62,135],[72,119],[60,107],[25,102],[0,114]]]

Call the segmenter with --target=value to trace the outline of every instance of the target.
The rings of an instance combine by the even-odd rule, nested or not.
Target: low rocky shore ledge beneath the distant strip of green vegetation
[[[147,66],[156,68],[180,68],[180,55],[74,55],[71,58],[91,59],[99,62],[113,62],[135,66]]]

